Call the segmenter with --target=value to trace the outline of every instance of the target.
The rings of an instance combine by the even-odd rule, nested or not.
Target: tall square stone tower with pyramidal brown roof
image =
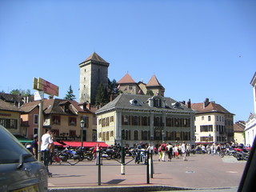
[[[110,63],[98,56],[95,52],[79,64],[80,67],[80,89],[79,102],[90,102],[95,104],[95,96],[98,86],[108,86],[108,67]]]

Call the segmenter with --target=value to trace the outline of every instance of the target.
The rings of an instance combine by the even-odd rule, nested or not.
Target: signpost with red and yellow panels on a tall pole
[[[34,100],[40,101],[39,106],[39,124],[38,124],[38,162],[41,161],[41,138],[42,138],[42,107],[43,107],[43,95],[44,93],[50,94],[51,96],[58,96],[58,86],[47,82],[42,78],[34,78],[33,89],[38,90],[34,93]]]

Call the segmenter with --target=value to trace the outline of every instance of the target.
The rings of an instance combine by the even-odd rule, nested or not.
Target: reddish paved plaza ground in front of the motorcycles
[[[126,158],[126,162],[130,159]],[[121,174],[119,162],[103,160],[100,180],[95,161],[84,160],[75,165],[74,163],[70,160],[71,165],[62,162],[49,167],[50,172],[53,173],[53,177],[48,180],[50,190],[62,187],[62,189],[70,187],[96,189],[98,187],[168,186],[186,189],[217,187],[236,191],[232,189],[238,187],[246,166],[246,162],[238,161],[233,157],[220,158],[218,155],[210,154],[192,154],[187,162],[182,158],[174,158],[171,162],[158,162],[158,155],[154,155],[154,174],[153,178],[150,178],[150,184],[147,184],[146,166],[134,164],[134,161],[127,164],[125,174]],[[100,186],[98,186],[99,183]]]

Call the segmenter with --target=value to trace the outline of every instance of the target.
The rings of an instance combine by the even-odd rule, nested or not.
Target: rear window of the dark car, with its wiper
[[[29,154],[30,151],[26,150],[13,134],[10,134],[6,128],[0,126],[0,164],[18,163],[21,154]],[[24,162],[34,162],[34,157],[26,156]]]

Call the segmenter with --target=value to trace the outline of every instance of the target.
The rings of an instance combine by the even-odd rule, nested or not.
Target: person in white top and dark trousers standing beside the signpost
[[[43,164],[46,166],[46,170],[48,174],[51,174],[48,169],[48,165],[50,162],[50,148],[53,145],[51,133],[52,133],[51,130],[47,130],[46,134],[42,135],[42,144],[41,144],[42,160],[43,160]]]

